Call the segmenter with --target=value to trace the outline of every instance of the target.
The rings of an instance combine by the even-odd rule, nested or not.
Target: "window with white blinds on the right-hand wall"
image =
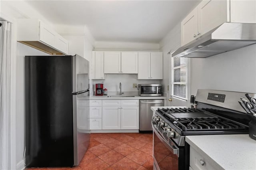
[[[190,59],[171,57],[170,62],[170,95],[177,99],[188,100]]]

